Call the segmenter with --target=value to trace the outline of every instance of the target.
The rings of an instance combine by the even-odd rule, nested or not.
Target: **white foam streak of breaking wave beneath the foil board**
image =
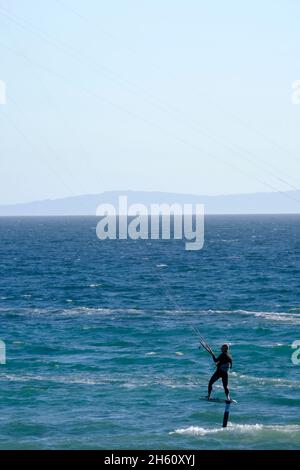
[[[298,424],[288,425],[265,425],[265,424],[232,424],[228,423],[227,428],[203,428],[200,426],[189,426],[187,428],[175,429],[169,434],[181,434],[188,436],[205,436],[209,434],[257,434],[259,432],[284,433],[284,434],[300,434],[300,426]]]

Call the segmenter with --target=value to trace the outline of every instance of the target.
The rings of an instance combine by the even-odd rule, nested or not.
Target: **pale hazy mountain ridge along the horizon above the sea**
[[[128,204],[147,207],[161,203],[202,203],[206,214],[300,214],[300,191],[201,196],[147,191],[107,191],[101,194],[46,199],[23,204],[0,205],[0,216],[96,215],[101,203],[118,207],[119,196]]]

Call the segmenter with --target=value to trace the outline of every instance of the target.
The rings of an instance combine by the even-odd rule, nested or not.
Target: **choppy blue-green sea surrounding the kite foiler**
[[[300,216],[208,216],[195,252],[96,223],[0,219],[0,448],[300,449]],[[193,325],[231,344],[227,429]]]

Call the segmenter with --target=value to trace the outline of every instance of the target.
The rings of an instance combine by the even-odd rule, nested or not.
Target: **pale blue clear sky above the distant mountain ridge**
[[[0,0],[0,204],[300,187],[298,0]]]

